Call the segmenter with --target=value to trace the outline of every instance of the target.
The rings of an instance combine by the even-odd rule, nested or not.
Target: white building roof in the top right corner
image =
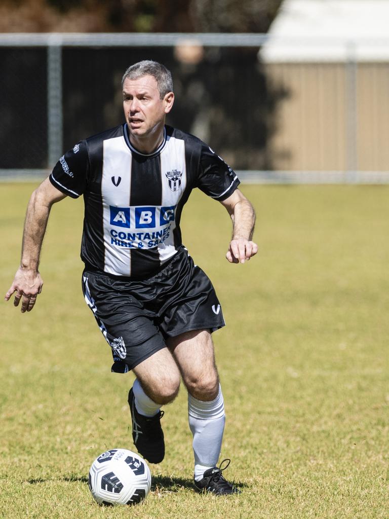
[[[389,0],[284,0],[265,62],[389,61]]]

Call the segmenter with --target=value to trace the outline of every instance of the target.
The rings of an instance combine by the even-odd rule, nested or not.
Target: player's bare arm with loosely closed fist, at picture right
[[[232,239],[226,254],[230,263],[244,263],[258,252],[258,245],[252,241],[255,211],[239,189],[221,204],[227,209],[233,225]]]

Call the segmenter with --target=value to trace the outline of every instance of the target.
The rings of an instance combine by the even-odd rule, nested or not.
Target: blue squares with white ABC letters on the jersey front
[[[172,222],[176,206],[114,207],[109,206],[110,224],[117,227],[151,229]],[[158,222],[158,223],[157,223]]]

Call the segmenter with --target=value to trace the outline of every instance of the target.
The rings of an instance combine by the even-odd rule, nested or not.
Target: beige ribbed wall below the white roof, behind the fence
[[[274,169],[346,170],[354,162],[359,170],[389,170],[389,63],[359,63],[354,93],[343,63],[266,67],[269,88],[285,94],[270,142]]]

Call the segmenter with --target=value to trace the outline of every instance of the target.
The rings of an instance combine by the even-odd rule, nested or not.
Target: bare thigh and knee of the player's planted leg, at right
[[[218,393],[219,378],[210,331],[185,332],[170,337],[166,344],[190,394],[203,401],[214,400]]]

